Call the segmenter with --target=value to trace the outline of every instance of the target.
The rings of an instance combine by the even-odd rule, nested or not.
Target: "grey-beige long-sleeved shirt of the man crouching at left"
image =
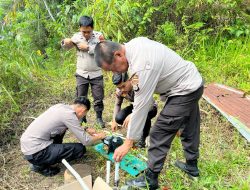
[[[91,144],[81,127],[76,113],[70,105],[57,104],[36,118],[22,134],[21,150],[24,155],[32,155],[53,143],[52,137],[69,129],[83,145]]]

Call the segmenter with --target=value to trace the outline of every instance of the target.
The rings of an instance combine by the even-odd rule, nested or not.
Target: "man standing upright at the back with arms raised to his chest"
[[[89,16],[82,16],[79,20],[79,26],[80,32],[75,33],[72,38],[62,40],[62,47],[66,49],[76,48],[76,95],[87,96],[89,86],[91,86],[97,123],[105,127],[102,119],[104,109],[103,75],[94,60],[95,45],[104,40],[104,37],[102,33],[94,31],[94,21]]]

